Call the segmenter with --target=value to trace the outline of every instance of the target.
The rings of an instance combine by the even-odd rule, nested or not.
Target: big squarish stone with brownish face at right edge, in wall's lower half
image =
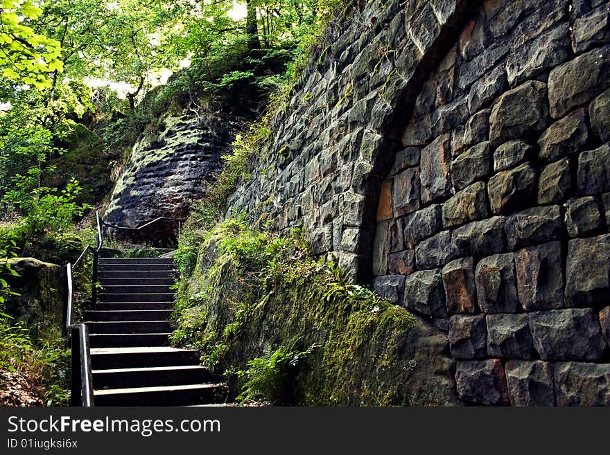
[[[610,301],[610,234],[568,242],[566,306],[604,305]]]

